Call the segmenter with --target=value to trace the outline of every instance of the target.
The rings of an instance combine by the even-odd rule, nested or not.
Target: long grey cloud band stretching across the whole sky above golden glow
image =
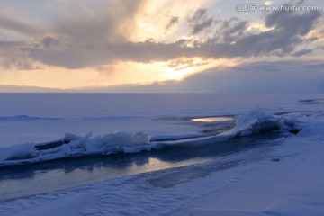
[[[137,17],[145,1],[60,1],[51,26],[41,31],[28,31],[23,23],[1,23],[0,28],[13,26],[14,31],[35,34],[34,42],[6,49],[14,58],[28,58],[42,64],[66,68],[99,67],[116,61],[168,61],[175,58],[249,58],[259,56],[302,56],[311,50],[295,50],[309,41],[303,37],[310,32],[320,12],[305,13],[275,11],[266,14],[268,31],[248,31],[248,22],[237,18],[217,21],[207,9],[198,9],[188,22],[189,39],[136,41]],[[76,4],[76,2],[78,4]],[[166,27],[179,19],[173,16]],[[36,28],[36,27],[35,27]],[[32,28],[31,28],[32,29]],[[206,33],[208,32],[208,33]],[[193,37],[194,36],[194,37]],[[193,39],[195,38],[195,39]],[[9,50],[9,49],[12,50]],[[7,53],[0,51],[2,58]],[[12,56],[13,57],[13,56]],[[23,60],[21,60],[23,61]],[[4,60],[3,60],[4,67]]]

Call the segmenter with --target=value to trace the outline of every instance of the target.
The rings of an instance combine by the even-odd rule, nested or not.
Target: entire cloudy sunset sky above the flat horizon
[[[0,0],[0,8],[0,92],[324,93],[322,0]]]

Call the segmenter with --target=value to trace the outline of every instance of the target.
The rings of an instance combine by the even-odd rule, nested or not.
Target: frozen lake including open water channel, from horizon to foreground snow
[[[218,134],[232,129],[237,116],[255,106],[266,107],[269,112],[281,115],[320,110],[314,98],[320,98],[320,95],[0,94],[0,157],[3,165],[13,156],[15,159],[12,161],[23,159],[22,163],[49,160],[0,167],[0,201],[126,175],[208,163],[255,148],[267,140],[278,138],[278,133],[241,138],[233,137],[234,134],[224,140],[219,140]],[[93,131],[92,138],[86,138],[85,143],[78,141],[89,131]],[[116,131],[121,133],[116,136]],[[80,137],[65,143],[61,140],[67,132]],[[132,153],[129,148],[132,148],[133,134],[137,132],[147,134],[149,149],[141,148],[139,143],[136,144],[139,148],[134,146],[136,150],[131,151],[141,152],[124,154]],[[95,136],[100,137],[96,139]],[[109,149],[105,146],[105,140],[119,145],[129,137],[131,143],[125,146]],[[52,140],[61,142],[60,146],[44,150],[36,148],[49,145]],[[139,142],[142,138],[136,140]],[[71,143],[74,144],[73,150],[77,146],[78,151],[67,155]],[[200,144],[195,146],[196,143]],[[85,149],[80,150],[81,144]],[[24,154],[22,157],[19,151],[26,145],[32,147],[29,149],[31,152],[28,152],[28,157]],[[95,156],[91,155],[93,153],[88,155],[88,149],[96,150]],[[76,158],[71,158],[75,155]],[[37,157],[40,159],[33,162]],[[58,158],[62,159],[52,160]]]

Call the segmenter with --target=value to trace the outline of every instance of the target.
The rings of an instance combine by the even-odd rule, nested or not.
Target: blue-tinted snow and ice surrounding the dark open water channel
[[[3,115],[0,119],[0,140],[7,143],[2,144],[2,153],[5,149],[3,162],[8,160],[8,149],[14,149],[17,153],[16,143],[23,142],[28,137],[26,133],[31,136],[24,142],[32,143],[29,146],[32,148],[24,149],[23,152],[31,150],[33,154],[33,157],[27,159],[43,156],[43,153],[38,152],[40,154],[37,155],[34,152],[34,142],[58,139],[64,132],[82,135],[86,134],[85,130],[93,130],[94,135],[123,131],[121,137],[126,136],[130,140],[122,146],[126,153],[132,152],[130,148],[143,150],[148,146],[160,148],[161,145],[197,144],[200,145],[197,148],[203,148],[205,143],[217,144],[220,139],[249,136],[262,130],[280,130],[285,136],[270,141],[268,145],[248,148],[204,163],[128,175],[64,191],[1,202],[0,215],[324,214],[323,94],[145,94],[140,95],[141,98],[129,94],[118,97],[114,94],[115,98],[110,98],[109,102],[103,102],[103,98],[112,95],[89,94],[97,97],[94,100],[96,103],[82,103],[81,96],[78,100],[72,98],[68,101],[67,95],[54,94],[50,100],[45,99],[45,95],[29,95],[30,98],[25,100],[31,103],[25,106],[19,104],[23,103],[26,96],[0,95],[5,102],[0,107]],[[53,97],[56,97],[56,101]],[[122,102],[116,104],[117,98],[122,99]],[[64,100],[70,103],[62,103]],[[115,103],[112,103],[113,100]],[[54,104],[56,106],[52,108]],[[120,109],[118,106],[121,106]],[[17,118],[20,115],[29,117]],[[151,142],[143,135],[190,137],[201,134],[202,125],[184,120],[218,115],[240,116],[237,117],[235,128],[211,137]],[[120,119],[128,123],[121,123]],[[78,124],[81,126],[75,128]],[[31,127],[35,125],[39,125],[37,130]],[[64,131],[60,135],[58,130],[50,130],[58,125]],[[109,130],[103,132],[103,125],[109,125]],[[289,131],[298,133],[294,135]],[[44,137],[37,139],[40,132]],[[135,132],[142,133],[139,139],[132,141],[131,136]],[[12,139],[14,134],[17,139]],[[72,146],[62,152],[100,149],[106,153],[107,146],[111,147],[107,143],[120,140],[109,136],[112,135],[108,135],[108,138],[76,138],[67,144]],[[69,135],[67,137],[71,138]],[[20,141],[14,143],[13,140]]]

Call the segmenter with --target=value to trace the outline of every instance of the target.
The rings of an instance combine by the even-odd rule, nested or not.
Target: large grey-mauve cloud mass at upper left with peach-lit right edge
[[[24,64],[20,62],[32,58],[43,64],[67,68],[103,64],[109,54],[103,53],[107,43],[128,41],[135,33],[134,22],[143,4],[145,0],[98,1],[96,4],[87,1],[49,2],[47,6],[52,6],[54,13],[49,14],[45,26],[14,19],[15,14],[0,14],[0,32],[15,31],[34,40],[0,41],[0,48],[3,48],[0,63],[5,68],[14,67],[14,64],[21,67]]]

